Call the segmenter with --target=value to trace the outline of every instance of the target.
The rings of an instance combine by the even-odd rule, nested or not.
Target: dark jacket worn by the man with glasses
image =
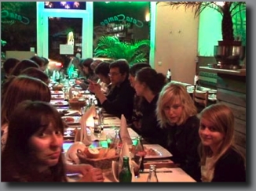
[[[115,86],[107,95],[107,99],[101,106],[108,114],[114,114],[121,118],[123,114],[127,123],[130,123],[133,114],[134,89],[130,86],[130,81],[126,79],[119,86]]]

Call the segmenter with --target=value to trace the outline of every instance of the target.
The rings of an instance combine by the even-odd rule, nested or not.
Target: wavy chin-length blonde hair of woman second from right
[[[177,122],[178,125],[184,124],[188,117],[197,114],[196,106],[185,86],[179,83],[170,82],[163,87],[162,91],[159,93],[159,99],[157,101],[156,116],[161,127],[170,124],[168,117],[166,117],[166,114],[164,113],[164,106],[166,106],[166,104],[173,104],[177,100],[181,102],[181,106],[183,107],[181,118]]]

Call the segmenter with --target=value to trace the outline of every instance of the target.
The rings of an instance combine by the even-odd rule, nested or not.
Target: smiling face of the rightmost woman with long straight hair
[[[224,139],[224,134],[217,131],[217,128],[207,119],[200,120],[199,137],[203,146],[210,146],[212,150],[218,149]]]

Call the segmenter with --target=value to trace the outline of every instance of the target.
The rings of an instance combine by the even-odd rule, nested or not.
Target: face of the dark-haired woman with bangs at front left
[[[60,160],[63,135],[49,124],[44,131],[39,130],[29,139],[31,157],[35,158],[38,171],[45,171]]]

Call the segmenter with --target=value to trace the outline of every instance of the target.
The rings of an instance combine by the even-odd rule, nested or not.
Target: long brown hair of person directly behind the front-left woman
[[[17,76],[6,89],[1,108],[1,124],[8,124],[9,117],[16,106],[24,100],[49,102],[51,92],[49,87],[35,77]]]

